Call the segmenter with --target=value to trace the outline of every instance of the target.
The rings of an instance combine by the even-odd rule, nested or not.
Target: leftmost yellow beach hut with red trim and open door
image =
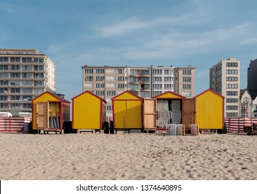
[[[63,123],[70,121],[70,102],[45,91],[32,99],[32,132],[62,131]]]

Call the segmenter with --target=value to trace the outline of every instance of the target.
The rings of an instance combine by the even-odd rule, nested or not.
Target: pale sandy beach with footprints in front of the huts
[[[257,179],[257,136],[0,133],[0,179]]]

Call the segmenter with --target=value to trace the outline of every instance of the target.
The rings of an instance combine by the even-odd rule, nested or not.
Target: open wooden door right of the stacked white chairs
[[[182,107],[182,123],[185,127],[196,123],[196,99],[195,98],[184,98]]]

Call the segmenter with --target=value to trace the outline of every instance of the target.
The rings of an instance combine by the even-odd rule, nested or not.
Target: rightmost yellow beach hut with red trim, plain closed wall
[[[196,99],[196,123],[200,130],[223,130],[224,96],[212,89],[203,91]]]

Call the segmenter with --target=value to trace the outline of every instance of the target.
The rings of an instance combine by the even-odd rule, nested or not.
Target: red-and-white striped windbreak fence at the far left
[[[24,123],[30,123],[31,118],[26,117],[0,117],[0,132],[18,132]]]

